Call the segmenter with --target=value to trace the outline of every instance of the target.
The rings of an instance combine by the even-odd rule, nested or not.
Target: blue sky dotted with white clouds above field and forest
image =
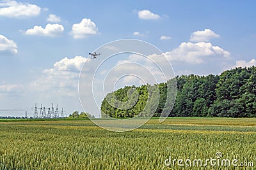
[[[115,50],[108,43],[118,39],[139,39],[155,46],[162,53],[144,55],[162,64],[167,59],[175,75],[220,74],[234,67],[255,66],[255,6],[256,1],[218,0],[0,1],[0,116],[24,116],[28,111],[32,117],[35,103],[45,108],[54,103],[65,115],[84,110],[97,117],[99,108],[90,108],[94,99],[86,92],[97,89],[97,83],[92,87],[90,79],[95,70],[89,67],[95,69],[99,62],[88,59],[88,52],[102,45]],[[107,59],[108,52],[102,52],[105,54],[99,57]],[[103,81],[103,73],[113,70],[113,79],[120,71],[113,68],[124,62],[151,68],[147,57],[140,57],[120,54],[104,64],[100,78]],[[137,66],[121,68],[132,72]],[[87,71],[83,107],[78,90],[82,69]],[[140,75],[118,81],[114,90],[150,83],[147,78],[141,81]],[[102,95],[98,104],[100,100]]]

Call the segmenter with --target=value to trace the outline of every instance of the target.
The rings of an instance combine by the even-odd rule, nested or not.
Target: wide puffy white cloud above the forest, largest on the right
[[[171,52],[165,52],[164,55],[170,61],[181,61],[193,64],[200,64],[204,62],[204,57],[230,57],[230,52],[220,48],[220,46],[213,46],[211,43],[199,42],[183,42],[178,48]],[[161,57],[161,55],[152,55],[151,57]]]

